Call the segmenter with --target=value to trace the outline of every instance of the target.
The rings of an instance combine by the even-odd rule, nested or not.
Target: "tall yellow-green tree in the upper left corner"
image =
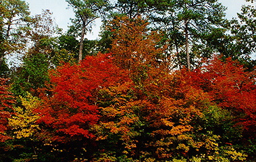
[[[0,1],[0,70],[5,55],[24,47],[22,30],[30,22],[28,5],[25,1]]]

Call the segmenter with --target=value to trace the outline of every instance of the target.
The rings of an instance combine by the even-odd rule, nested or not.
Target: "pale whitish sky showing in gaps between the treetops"
[[[56,24],[63,30],[68,29],[70,25],[70,18],[74,18],[72,9],[68,9],[68,3],[65,0],[25,0],[29,7],[31,15],[41,14],[43,9],[49,9],[53,12],[53,18],[55,18]],[[236,17],[236,13],[240,12],[240,8],[246,3],[245,0],[219,0],[222,5],[228,7],[226,10],[226,18],[231,19]],[[93,40],[99,38],[99,30],[101,21],[97,20],[95,26],[93,26],[93,32],[88,33],[86,38]]]

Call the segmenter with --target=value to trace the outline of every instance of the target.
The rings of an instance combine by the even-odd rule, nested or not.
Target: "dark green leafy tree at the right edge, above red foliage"
[[[253,5],[243,5],[241,13],[237,15],[238,19],[230,21],[230,46],[232,49],[224,55],[232,57],[234,60],[239,59],[255,64],[251,60],[251,55],[256,51],[256,8]]]

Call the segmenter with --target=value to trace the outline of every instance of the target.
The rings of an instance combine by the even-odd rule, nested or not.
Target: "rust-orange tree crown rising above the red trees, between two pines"
[[[160,45],[163,36],[150,32],[148,25],[142,18],[127,16],[118,17],[109,25],[113,32],[110,51],[115,63],[128,70],[133,78],[143,78],[143,72],[159,68],[168,61],[164,55],[165,47]]]

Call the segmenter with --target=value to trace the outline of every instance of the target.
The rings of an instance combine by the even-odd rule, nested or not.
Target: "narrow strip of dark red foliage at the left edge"
[[[15,100],[7,90],[6,79],[0,78],[0,142],[10,137],[5,134],[8,129],[8,118],[11,116],[12,105]]]

